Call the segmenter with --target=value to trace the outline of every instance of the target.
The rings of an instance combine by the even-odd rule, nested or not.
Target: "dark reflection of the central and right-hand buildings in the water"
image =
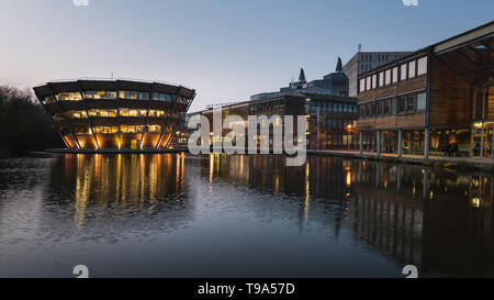
[[[299,199],[302,227],[318,222],[335,237],[349,227],[355,241],[425,276],[494,276],[490,174],[328,157],[308,157],[299,168],[277,156],[209,163],[216,169],[212,181]]]

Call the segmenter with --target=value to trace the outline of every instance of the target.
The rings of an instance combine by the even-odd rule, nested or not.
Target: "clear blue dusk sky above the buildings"
[[[191,111],[308,80],[363,51],[415,51],[487,23],[492,0],[0,0],[0,85],[164,80]]]

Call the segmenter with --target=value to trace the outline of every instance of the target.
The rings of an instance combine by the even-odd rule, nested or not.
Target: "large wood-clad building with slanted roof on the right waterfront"
[[[494,22],[358,80],[361,151],[494,157]]]

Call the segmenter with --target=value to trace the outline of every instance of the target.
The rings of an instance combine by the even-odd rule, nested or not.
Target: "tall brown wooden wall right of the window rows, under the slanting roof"
[[[470,126],[470,85],[435,57],[430,73],[429,125]]]

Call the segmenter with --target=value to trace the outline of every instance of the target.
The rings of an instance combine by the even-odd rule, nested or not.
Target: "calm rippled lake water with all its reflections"
[[[0,277],[493,277],[492,190],[330,157],[0,160]]]

